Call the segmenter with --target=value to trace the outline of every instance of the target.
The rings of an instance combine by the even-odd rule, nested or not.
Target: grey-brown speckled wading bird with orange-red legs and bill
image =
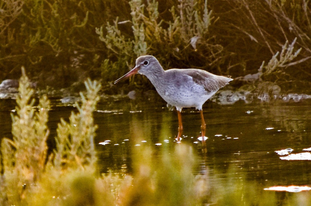
[[[156,88],[160,96],[170,105],[175,106],[178,114],[177,141],[183,132],[181,109],[195,107],[201,114],[201,138],[205,146],[205,121],[202,105],[221,87],[233,80],[230,77],[218,76],[201,69],[169,69],[164,70],[159,61],[151,55],[136,59],[136,66],[123,77],[114,82],[130,77],[136,73],[145,75]],[[200,139],[201,139],[200,138]]]

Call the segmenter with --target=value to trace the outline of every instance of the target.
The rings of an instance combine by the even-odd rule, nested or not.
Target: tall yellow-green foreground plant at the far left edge
[[[17,115],[11,114],[13,140],[3,138],[1,142],[5,190],[12,202],[25,198],[23,195],[25,187],[34,184],[44,173],[46,139],[49,135],[46,123],[50,102],[46,96],[41,97],[39,111],[35,112],[33,108],[35,99],[32,99],[34,90],[30,88],[24,68],[18,90]],[[8,185],[9,183],[12,185]]]

